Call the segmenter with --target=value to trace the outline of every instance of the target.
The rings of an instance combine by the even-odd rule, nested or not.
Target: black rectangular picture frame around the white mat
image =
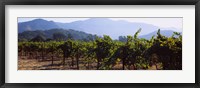
[[[200,0],[1,0],[0,3],[0,88],[200,88]],[[195,5],[195,83],[5,83],[6,5]]]

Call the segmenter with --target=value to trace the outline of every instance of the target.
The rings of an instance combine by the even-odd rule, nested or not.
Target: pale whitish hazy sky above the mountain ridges
[[[18,18],[18,22],[31,21],[38,18]],[[48,21],[69,23],[78,20],[87,20],[89,18],[41,18]],[[152,24],[161,28],[173,27],[182,30],[182,18],[109,18],[111,20],[125,20],[129,22],[141,22]]]

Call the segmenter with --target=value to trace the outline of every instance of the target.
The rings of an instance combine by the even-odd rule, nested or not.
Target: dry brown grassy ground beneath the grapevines
[[[83,62],[83,59],[79,61],[79,70],[96,70],[97,63],[88,64]],[[161,68],[160,64],[157,64],[158,68]],[[113,70],[122,70],[122,64],[118,63],[114,65]],[[130,67],[134,69],[133,67]],[[66,59],[65,65],[62,63],[62,59],[54,58],[53,65],[50,58],[45,60],[39,59],[28,59],[28,57],[23,56],[18,59],[18,70],[77,70],[76,60],[74,59],[74,65],[72,66],[72,60]],[[142,70],[142,69],[141,69]],[[148,70],[156,70],[156,66],[152,65]]]

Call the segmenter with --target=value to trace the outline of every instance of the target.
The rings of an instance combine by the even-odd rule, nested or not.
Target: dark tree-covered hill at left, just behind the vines
[[[65,39],[67,39],[70,35],[74,40],[88,40],[94,39],[95,35],[88,34],[81,31],[75,31],[72,29],[50,29],[50,30],[35,30],[35,31],[24,31],[18,34],[18,39],[20,40],[31,40],[36,36],[40,35],[46,39],[54,39],[55,34],[62,35]],[[59,36],[59,35],[58,35]]]

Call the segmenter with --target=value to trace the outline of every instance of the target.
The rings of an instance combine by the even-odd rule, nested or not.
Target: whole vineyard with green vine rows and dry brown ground
[[[18,42],[18,70],[182,70],[182,35],[138,38],[141,29],[124,41],[96,36],[87,41]],[[32,64],[32,65],[31,65]],[[38,64],[38,65],[37,65]]]

